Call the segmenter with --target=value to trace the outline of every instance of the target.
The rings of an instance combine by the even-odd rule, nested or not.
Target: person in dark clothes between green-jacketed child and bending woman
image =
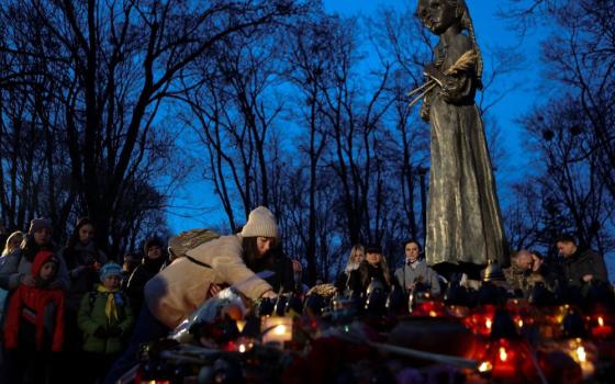
[[[163,241],[157,237],[152,237],[143,246],[144,258],[141,264],[135,268],[126,284],[126,294],[133,309],[133,314],[138,316],[143,306],[145,284],[160,272],[166,266],[168,256],[165,252]]]

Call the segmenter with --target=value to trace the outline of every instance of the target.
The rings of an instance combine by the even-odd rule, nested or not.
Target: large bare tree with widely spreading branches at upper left
[[[12,36],[31,44],[1,49],[55,64],[45,74],[58,86],[54,95],[64,106],[72,183],[105,244],[131,180],[150,172],[156,116],[165,100],[185,91],[180,75],[219,42],[253,33],[292,12],[293,3],[15,0],[3,10],[40,25],[40,42],[26,35],[32,30],[15,27]]]

